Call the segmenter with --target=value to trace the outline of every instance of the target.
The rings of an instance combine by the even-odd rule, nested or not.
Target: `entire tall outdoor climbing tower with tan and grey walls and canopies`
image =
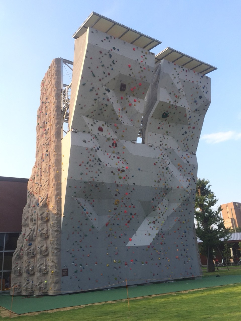
[[[196,150],[216,68],[172,48],[155,56],[160,41],[94,12],[73,37],[62,113],[60,59],[42,82],[15,293],[200,276]]]

